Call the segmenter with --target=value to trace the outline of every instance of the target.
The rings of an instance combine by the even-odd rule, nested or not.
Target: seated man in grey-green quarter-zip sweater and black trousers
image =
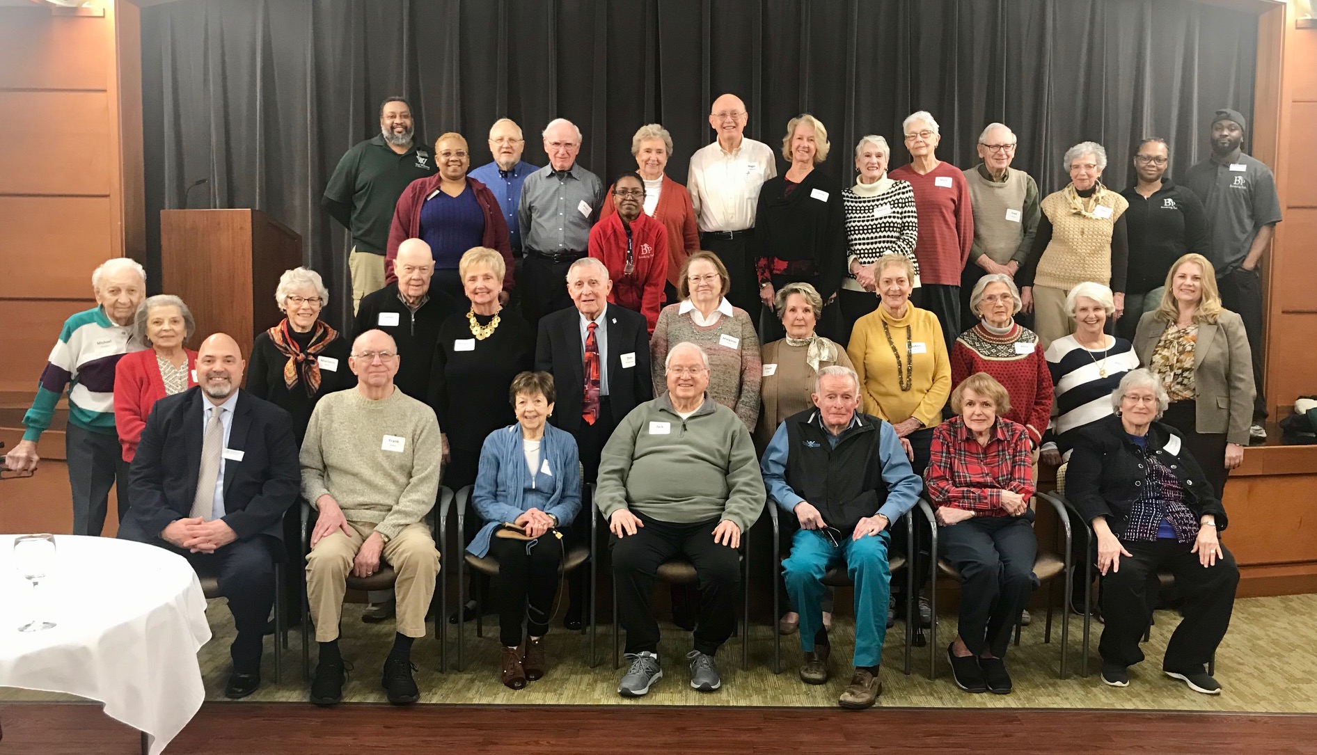
[[[699,580],[690,686],[722,685],[714,655],[736,629],[741,532],[764,510],[749,431],[705,394],[709,354],[684,341],[668,352],[668,393],[633,408],[599,461],[595,505],[608,519],[618,617],[631,668],[618,693],[640,697],[662,679],[658,622],[649,610],[658,565],[687,559]]]

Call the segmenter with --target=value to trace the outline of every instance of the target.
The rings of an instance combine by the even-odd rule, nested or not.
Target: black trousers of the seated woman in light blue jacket
[[[544,636],[549,631],[564,552],[562,540],[553,535],[535,540],[490,539],[490,556],[498,561],[493,584],[499,640],[504,647],[522,644],[523,621],[531,636]]]

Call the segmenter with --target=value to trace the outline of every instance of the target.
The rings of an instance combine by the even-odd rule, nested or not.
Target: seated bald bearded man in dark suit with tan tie
[[[232,698],[261,685],[283,513],[302,485],[292,416],[238,389],[245,366],[232,337],[205,339],[199,385],[158,401],[146,419],[129,473],[133,506],[119,528],[219,578],[237,625],[224,690]]]

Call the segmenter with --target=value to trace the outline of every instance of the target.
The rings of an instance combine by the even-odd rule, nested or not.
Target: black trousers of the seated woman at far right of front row
[[[1175,574],[1176,590],[1184,597],[1184,621],[1166,646],[1162,668],[1201,672],[1230,626],[1235,586],[1239,584],[1234,556],[1222,545],[1225,556],[1217,559],[1216,565],[1202,567],[1198,555],[1189,552],[1192,543],[1121,539],[1121,545],[1131,556],[1121,556],[1121,571],[1102,577],[1102,621],[1106,626],[1097,647],[1102,661],[1134,665],[1143,660],[1139,640],[1152,618],[1148,580],[1159,569],[1169,569]]]

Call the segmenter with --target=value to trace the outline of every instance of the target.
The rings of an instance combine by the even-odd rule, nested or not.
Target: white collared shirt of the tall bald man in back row
[[[745,231],[755,227],[755,206],[764,182],[777,175],[777,158],[761,141],[741,137],[732,152],[716,141],[690,155],[686,191],[701,231]]]

